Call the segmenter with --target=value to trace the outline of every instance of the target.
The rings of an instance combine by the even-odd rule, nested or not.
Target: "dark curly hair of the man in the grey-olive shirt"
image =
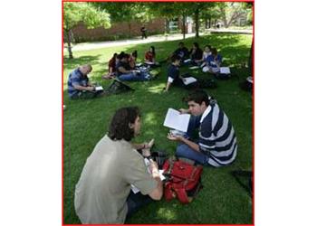
[[[130,141],[134,137],[134,129],[130,128],[130,124],[133,124],[138,117],[140,117],[138,107],[118,109],[111,119],[108,137],[111,140]]]

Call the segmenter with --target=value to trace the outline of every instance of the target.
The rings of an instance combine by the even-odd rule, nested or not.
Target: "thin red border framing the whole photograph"
[[[252,76],[254,81],[253,92],[252,92],[252,172],[253,172],[253,197],[252,197],[252,224],[199,224],[199,225],[213,225],[213,226],[230,226],[230,225],[240,225],[240,226],[250,226],[255,225],[255,0],[62,0],[62,27],[63,27],[63,3],[64,2],[245,2],[245,3],[253,3],[253,51],[252,51]],[[64,215],[63,215],[63,29],[62,29],[62,226],[73,226],[73,225],[81,225],[81,224],[64,224]],[[106,224],[89,224],[89,225],[106,225]],[[108,224],[111,225],[111,224]],[[114,224],[115,225],[115,224]],[[142,225],[142,224],[130,224],[130,225]],[[146,224],[146,225],[157,225],[157,224]],[[189,224],[164,224],[164,225],[189,225]],[[195,225],[195,224],[190,224]]]

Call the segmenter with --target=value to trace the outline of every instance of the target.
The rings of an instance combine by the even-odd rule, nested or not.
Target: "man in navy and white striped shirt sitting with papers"
[[[185,137],[168,134],[168,139],[178,141],[176,155],[195,160],[201,165],[223,166],[235,160],[237,144],[235,130],[226,114],[209,99],[204,90],[195,90],[187,96],[188,109],[179,109],[181,113],[192,115]],[[199,138],[191,139],[198,128]]]

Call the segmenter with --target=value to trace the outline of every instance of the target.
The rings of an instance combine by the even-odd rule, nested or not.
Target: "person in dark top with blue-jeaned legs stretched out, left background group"
[[[121,52],[118,56],[119,62],[117,63],[117,77],[119,80],[127,81],[142,81],[150,80],[149,73],[144,73],[141,71],[131,70],[129,59],[130,55],[124,52]]]

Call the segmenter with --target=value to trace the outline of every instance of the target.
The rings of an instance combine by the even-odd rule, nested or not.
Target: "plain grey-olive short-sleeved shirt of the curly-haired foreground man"
[[[76,184],[75,211],[82,223],[124,223],[130,184],[149,194],[158,182],[130,142],[102,137]]]

